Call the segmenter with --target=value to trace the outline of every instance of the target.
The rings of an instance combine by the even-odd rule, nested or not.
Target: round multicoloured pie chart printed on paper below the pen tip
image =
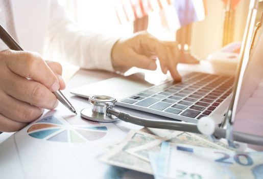
[[[104,124],[79,118],[67,119],[55,116],[42,118],[28,128],[28,135],[47,141],[81,143],[99,140],[107,134]]]

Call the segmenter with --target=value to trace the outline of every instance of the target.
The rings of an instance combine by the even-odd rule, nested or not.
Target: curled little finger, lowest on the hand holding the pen
[[[15,132],[25,127],[27,123],[13,121],[0,114],[0,131]]]

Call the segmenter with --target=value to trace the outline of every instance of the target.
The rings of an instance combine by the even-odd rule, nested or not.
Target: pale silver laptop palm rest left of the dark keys
[[[88,98],[94,95],[105,95],[121,100],[149,88],[153,84],[144,80],[141,74],[119,76],[87,84],[70,90],[70,93]]]

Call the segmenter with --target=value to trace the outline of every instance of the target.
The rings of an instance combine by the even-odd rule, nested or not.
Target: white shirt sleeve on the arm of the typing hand
[[[114,71],[111,49],[120,36],[81,30],[67,17],[57,1],[50,1],[47,46],[67,62],[84,69]]]

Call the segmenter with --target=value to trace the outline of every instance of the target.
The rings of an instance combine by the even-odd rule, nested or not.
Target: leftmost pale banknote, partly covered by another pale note
[[[124,167],[152,174],[149,162],[141,160],[126,150],[160,140],[159,137],[141,131],[131,131],[125,140],[100,156],[99,160],[118,167]]]

